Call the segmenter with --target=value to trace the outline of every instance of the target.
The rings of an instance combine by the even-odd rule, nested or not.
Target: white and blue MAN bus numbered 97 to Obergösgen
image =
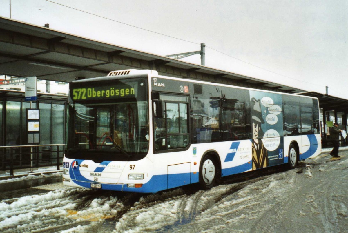
[[[156,193],[321,153],[318,99],[112,71],[70,83],[63,184]]]

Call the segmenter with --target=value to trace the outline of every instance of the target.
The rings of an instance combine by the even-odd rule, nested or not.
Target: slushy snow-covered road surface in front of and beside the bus
[[[45,185],[39,194],[0,202],[0,231],[345,232],[348,151],[340,154],[227,177],[210,190],[133,194]]]

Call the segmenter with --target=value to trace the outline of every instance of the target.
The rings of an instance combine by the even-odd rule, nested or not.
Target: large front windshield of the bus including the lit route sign
[[[68,156],[128,160],[149,147],[148,88],[145,79],[70,84]]]

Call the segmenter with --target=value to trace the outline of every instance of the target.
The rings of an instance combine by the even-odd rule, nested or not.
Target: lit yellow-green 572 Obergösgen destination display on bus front
[[[137,82],[132,82],[128,85],[122,83],[120,85],[99,87],[72,87],[70,96],[74,101],[137,97]]]

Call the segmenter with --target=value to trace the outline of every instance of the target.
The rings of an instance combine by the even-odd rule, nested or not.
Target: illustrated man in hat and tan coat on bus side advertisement
[[[268,153],[263,145],[261,139],[258,139],[259,135],[263,136],[261,124],[264,123],[261,113],[261,102],[260,99],[256,100],[254,97],[250,101],[251,105],[251,125],[253,128],[253,139],[252,139],[252,161],[253,170],[258,168],[264,168],[268,166]]]

